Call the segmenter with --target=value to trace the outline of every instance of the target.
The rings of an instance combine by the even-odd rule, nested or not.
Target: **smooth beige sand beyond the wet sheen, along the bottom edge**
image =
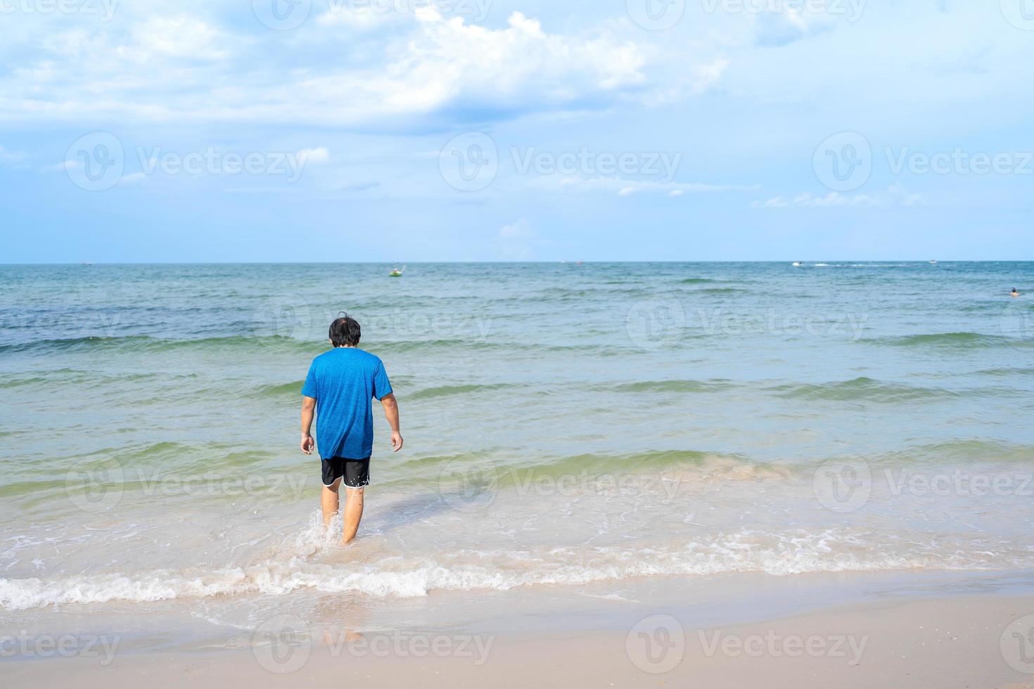
[[[636,614],[648,612],[637,610]],[[5,663],[8,686],[765,687],[1034,686],[1014,634],[1034,629],[1034,595],[882,599],[721,626],[657,609],[622,633],[583,629],[351,632],[260,640],[221,652],[165,651]],[[629,614],[631,610],[626,610]],[[1025,619],[1026,618],[1026,619]],[[322,638],[321,638],[322,636]],[[297,639],[296,639],[297,640]]]

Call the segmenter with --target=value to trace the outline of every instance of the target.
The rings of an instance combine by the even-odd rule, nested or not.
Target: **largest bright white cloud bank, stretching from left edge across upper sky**
[[[513,117],[658,97],[647,69],[659,56],[634,34],[550,33],[521,12],[493,29],[425,10],[394,15],[402,34],[376,34],[357,55],[341,48],[340,14],[351,17],[325,14],[283,37],[274,48],[293,51],[281,59],[261,50],[270,34],[257,42],[179,14],[123,30],[52,30],[0,76],[0,119],[391,126],[436,114]],[[302,37],[311,53],[297,59]],[[709,85],[724,66],[683,70]]]

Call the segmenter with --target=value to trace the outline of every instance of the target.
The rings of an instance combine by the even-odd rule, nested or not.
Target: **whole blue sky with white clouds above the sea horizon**
[[[1034,0],[0,13],[0,262],[1034,249]]]

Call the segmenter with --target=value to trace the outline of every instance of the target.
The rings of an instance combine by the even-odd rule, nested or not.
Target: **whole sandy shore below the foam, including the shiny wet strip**
[[[268,620],[219,647],[108,654],[101,637],[74,657],[8,659],[3,667],[12,686],[61,684],[73,671],[79,683],[113,689],[341,678],[371,687],[501,687],[515,678],[604,687],[1034,686],[1034,644],[1024,640],[1034,634],[1030,573],[719,578],[643,583],[643,600],[529,590],[508,605],[495,601],[493,616],[451,625],[423,609],[426,624],[377,629],[370,619],[352,629],[340,623],[340,602],[308,620]],[[432,606],[458,606],[458,597],[439,598]],[[566,608],[550,609],[565,599]],[[514,614],[528,600],[538,606]]]

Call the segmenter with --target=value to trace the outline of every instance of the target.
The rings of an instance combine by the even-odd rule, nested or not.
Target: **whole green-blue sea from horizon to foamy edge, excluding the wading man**
[[[0,619],[1034,566],[1032,262],[390,269],[0,267]],[[347,549],[297,448],[339,312],[406,442]]]

